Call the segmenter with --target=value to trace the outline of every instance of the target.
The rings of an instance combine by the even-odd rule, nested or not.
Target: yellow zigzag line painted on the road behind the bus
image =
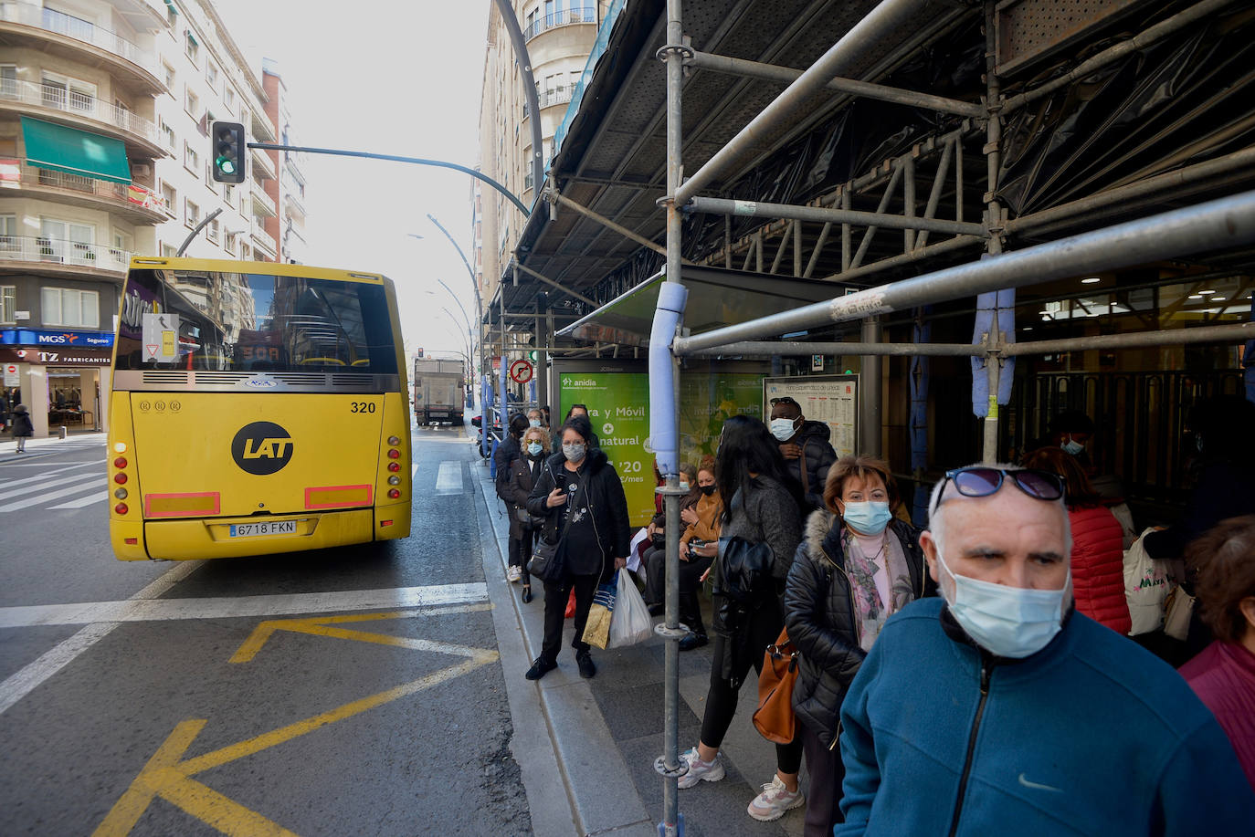
[[[468,612],[472,610],[488,610],[491,605],[472,605],[469,607],[442,609],[443,612]],[[312,715],[286,727],[280,727],[269,733],[262,733],[254,738],[230,744],[221,749],[182,759],[192,742],[201,733],[207,723],[203,719],[184,720],[174,727],[174,732],[148,763],[139,770],[131,787],[118,799],[104,821],[93,832],[93,837],[124,837],[129,834],[139,822],[144,811],[152,804],[154,798],[164,799],[181,808],[186,813],[196,817],[201,822],[216,828],[225,834],[236,837],[297,837],[294,832],[284,828],[272,819],[267,819],[260,813],[251,811],[238,802],[222,796],[191,777],[210,770],[223,764],[238,760],[261,750],[277,747],[286,742],[311,733],[323,727],[328,727],[345,718],[359,715],[364,712],[399,700],[408,695],[430,689],[463,674],[469,674],[482,665],[494,663],[498,654],[491,649],[477,649],[464,645],[451,645],[447,642],[433,642],[410,637],[388,636],[387,634],[369,634],[340,627],[331,627],[334,624],[375,621],[382,619],[400,619],[404,616],[428,615],[433,610],[393,611],[385,614],[349,614],[341,616],[329,616],[321,619],[280,619],[269,620],[259,625],[252,635],[240,646],[232,663],[246,663],[256,656],[261,646],[276,630],[299,631],[335,639],[350,639],[363,642],[379,642],[398,648],[414,650],[437,651],[456,656],[469,658],[457,665],[433,671],[418,680],[387,689],[359,700],[353,700],[329,712]],[[238,658],[238,659],[237,659]]]

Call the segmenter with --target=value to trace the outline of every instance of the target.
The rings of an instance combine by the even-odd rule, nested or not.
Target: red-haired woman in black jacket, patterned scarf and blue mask
[[[841,822],[845,768],[836,742],[850,683],[885,620],[935,591],[920,531],[894,517],[900,498],[887,463],[837,459],[823,498],[784,585],[784,627],[801,654],[793,712],[811,774],[806,837],[831,834]]]

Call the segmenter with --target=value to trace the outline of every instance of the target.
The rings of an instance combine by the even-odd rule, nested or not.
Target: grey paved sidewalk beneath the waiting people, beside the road
[[[486,541],[496,540],[496,550],[492,543],[484,543],[486,581],[493,604],[502,607],[503,599],[508,597],[517,617],[515,625],[506,619],[497,624],[515,723],[513,749],[523,768],[533,833],[545,837],[609,832],[616,837],[658,834],[663,816],[663,778],[654,770],[654,760],[663,754],[664,745],[664,640],[655,636],[626,649],[594,649],[597,675],[584,680],[575,668],[575,653],[570,648],[571,622],[567,621],[558,668],[536,683],[523,679],[523,671],[540,654],[545,594],[540,582],[535,581],[536,597],[525,605],[518,597],[521,586],[506,581],[510,522],[505,506],[493,491],[487,466],[472,463],[471,468],[472,474],[478,476],[473,482],[478,484],[491,521],[491,535],[482,530],[482,536]],[[511,627],[520,629],[521,636],[502,636],[503,626],[507,632]],[[523,659],[507,659],[507,655],[518,654]],[[710,646],[680,654],[681,753],[698,742],[709,679]],[[720,748],[727,777],[679,792],[686,837],[796,837],[802,833],[804,808],[789,811],[774,822],[758,822],[745,812],[761,786],[769,782],[776,770],[774,745],[762,738],[750,723],[757,689],[757,680],[747,679],[737,717]],[[521,708],[518,713],[516,705]],[[526,717],[530,712],[542,715],[535,719],[536,724]],[[546,729],[536,729],[538,724]],[[548,742],[543,742],[545,732]],[[543,781],[547,772],[543,765],[552,764],[550,754],[528,753],[527,745],[520,745],[520,738],[530,739],[536,747],[547,743],[552,748],[557,772],[551,776],[565,786],[572,827],[566,827],[552,809],[561,803],[555,788],[547,787]],[[530,763],[538,767],[533,769]],[[804,768],[802,782],[804,787]]]

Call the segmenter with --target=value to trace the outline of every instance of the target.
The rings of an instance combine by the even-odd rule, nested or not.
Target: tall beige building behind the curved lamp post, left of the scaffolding
[[[597,36],[609,3],[605,0],[515,0],[523,31],[540,113],[531,114],[523,94],[523,75],[496,4],[488,13],[483,92],[479,99],[479,171],[536,205],[532,182],[532,129],[541,120],[546,167],[553,154],[553,136],[566,115]],[[543,184],[542,184],[543,187]],[[474,265],[484,305],[496,297],[522,233],[522,213],[505,196],[476,181],[472,193]],[[492,343],[492,335],[486,338]],[[499,349],[498,349],[499,351]]]

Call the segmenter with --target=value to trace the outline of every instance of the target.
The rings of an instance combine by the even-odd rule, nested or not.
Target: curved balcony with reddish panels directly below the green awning
[[[138,183],[113,183],[82,174],[26,166],[0,158],[0,197],[31,197],[70,206],[105,210],[132,223],[166,221],[166,201]]]

